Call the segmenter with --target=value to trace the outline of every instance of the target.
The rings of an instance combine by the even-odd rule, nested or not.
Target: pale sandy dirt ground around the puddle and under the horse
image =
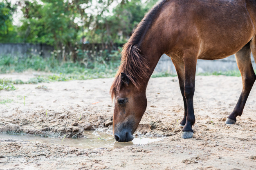
[[[83,130],[96,128],[111,132],[112,81],[113,78],[24,84],[16,85],[16,91],[0,91],[0,101],[12,101],[0,104],[0,132],[49,137],[83,137]],[[177,77],[151,78],[146,92],[148,107],[137,134],[166,136],[161,141],[113,149],[81,149],[0,139],[0,170],[255,170],[256,85],[242,117],[234,125],[225,124],[241,89],[241,77],[197,76],[195,133],[192,139],[182,139],[178,124],[184,108]]]

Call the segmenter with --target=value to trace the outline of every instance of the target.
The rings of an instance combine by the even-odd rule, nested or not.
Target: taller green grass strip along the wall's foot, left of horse
[[[0,73],[23,72],[27,70],[44,71],[62,74],[102,74],[114,73],[119,65],[119,60],[110,62],[95,61],[91,62],[62,62],[54,57],[43,58],[40,56],[0,56]]]

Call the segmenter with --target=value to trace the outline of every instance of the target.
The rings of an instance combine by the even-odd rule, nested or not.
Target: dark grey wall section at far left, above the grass
[[[52,46],[45,44],[30,44],[30,43],[19,43],[19,44],[1,44],[0,43],[0,55],[11,54],[11,55],[41,55],[43,57],[51,56],[50,52],[53,51]]]

